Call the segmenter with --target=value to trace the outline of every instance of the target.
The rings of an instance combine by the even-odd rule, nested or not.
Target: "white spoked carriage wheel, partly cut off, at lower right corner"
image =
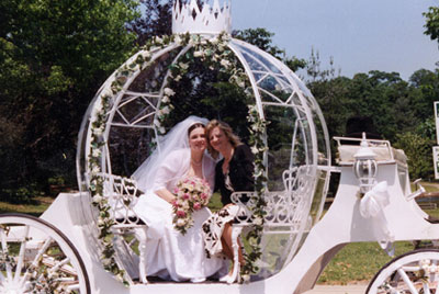
[[[394,258],[375,274],[365,293],[439,294],[439,250],[415,250]]]

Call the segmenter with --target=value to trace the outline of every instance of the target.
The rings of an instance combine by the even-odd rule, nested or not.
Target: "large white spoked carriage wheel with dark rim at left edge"
[[[30,215],[2,214],[0,293],[91,291],[82,259],[59,229]]]

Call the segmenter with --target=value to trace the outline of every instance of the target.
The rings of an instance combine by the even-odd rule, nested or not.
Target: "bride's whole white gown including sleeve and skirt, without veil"
[[[160,165],[155,177],[154,189],[140,196],[134,211],[148,226],[146,246],[148,275],[165,280],[188,281],[219,276],[227,273],[225,260],[207,258],[203,241],[202,225],[211,216],[204,207],[193,213],[193,226],[185,235],[173,228],[172,206],[153,191],[173,191],[179,179],[189,170],[190,150],[172,151]],[[203,157],[203,177],[213,185],[215,163]]]

